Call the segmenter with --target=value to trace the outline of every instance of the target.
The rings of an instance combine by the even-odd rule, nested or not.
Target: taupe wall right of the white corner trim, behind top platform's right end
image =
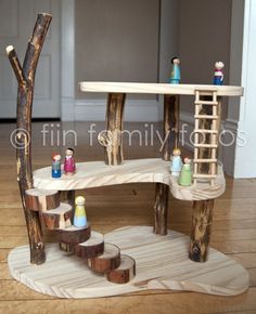
[[[183,83],[212,83],[214,63],[225,63],[225,83],[229,84],[231,0],[180,0],[179,51]],[[188,99],[184,112],[193,112]],[[227,116],[227,105],[222,117]]]

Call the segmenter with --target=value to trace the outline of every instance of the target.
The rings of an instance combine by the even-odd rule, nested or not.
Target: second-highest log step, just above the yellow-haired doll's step
[[[61,202],[55,209],[42,211],[41,222],[49,230],[66,228],[72,226],[74,211],[71,205]]]

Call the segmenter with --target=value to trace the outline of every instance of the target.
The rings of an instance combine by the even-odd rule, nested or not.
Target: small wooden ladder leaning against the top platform
[[[217,176],[217,148],[218,148],[218,101],[217,101],[217,92],[216,91],[207,91],[209,96],[212,96],[210,101],[205,101],[202,99],[202,94],[205,91],[195,91],[195,129],[194,129],[194,173],[193,181],[194,184],[197,183],[197,179],[208,179],[210,185],[214,185],[215,179]],[[202,114],[201,109],[203,105],[212,106],[212,114]],[[202,120],[210,120],[210,129],[205,129],[201,127]],[[200,134],[204,138],[206,134],[209,134],[210,143],[200,143]],[[210,149],[210,157],[208,158],[200,158],[200,149]],[[202,173],[201,163],[209,163],[208,173]]]

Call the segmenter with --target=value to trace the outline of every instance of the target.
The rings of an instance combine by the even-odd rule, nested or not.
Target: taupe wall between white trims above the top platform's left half
[[[159,0],[76,0],[76,83],[157,81],[158,31]]]

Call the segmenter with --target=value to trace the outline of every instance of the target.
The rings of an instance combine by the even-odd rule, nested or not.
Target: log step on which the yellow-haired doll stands
[[[77,245],[80,243],[85,243],[91,236],[90,224],[88,223],[84,227],[69,226],[65,228],[57,228],[56,236],[60,243],[64,243],[67,245]]]

